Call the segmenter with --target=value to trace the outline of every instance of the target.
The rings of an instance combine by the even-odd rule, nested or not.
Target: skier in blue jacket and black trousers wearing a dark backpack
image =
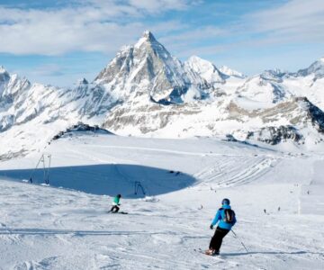
[[[236,223],[235,212],[231,210],[229,199],[221,201],[221,208],[217,211],[215,218],[211,221],[211,229],[219,222],[213,237],[211,238],[210,247],[206,250],[207,255],[219,255],[222,239],[229,233],[229,230]]]

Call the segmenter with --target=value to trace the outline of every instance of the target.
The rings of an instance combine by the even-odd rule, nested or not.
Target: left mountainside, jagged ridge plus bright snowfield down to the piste
[[[78,121],[100,123],[118,103],[102,85],[86,80],[74,88],[58,88],[31,84],[3,68],[1,81],[0,159],[42,149],[59,131]]]

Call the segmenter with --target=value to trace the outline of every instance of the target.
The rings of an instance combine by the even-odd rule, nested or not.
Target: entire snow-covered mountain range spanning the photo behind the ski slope
[[[94,82],[82,79],[73,88],[31,84],[1,67],[0,158],[42,149],[79,121],[119,135],[230,135],[315,147],[323,136],[323,74],[323,58],[296,73],[249,77],[196,56],[183,63],[149,31],[123,47]]]

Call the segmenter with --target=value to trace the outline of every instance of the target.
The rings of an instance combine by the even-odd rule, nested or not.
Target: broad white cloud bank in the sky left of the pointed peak
[[[0,5],[0,52],[59,55],[70,51],[111,53],[139,37],[148,14],[184,9],[193,1],[84,0],[52,9]],[[165,27],[163,27],[165,24]],[[151,29],[177,29],[175,21],[149,23]]]

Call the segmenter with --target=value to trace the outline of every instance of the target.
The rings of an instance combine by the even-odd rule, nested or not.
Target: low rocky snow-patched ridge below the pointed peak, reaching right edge
[[[234,101],[218,105],[205,103],[205,106],[199,103],[172,106],[148,104],[132,109],[121,105],[112,110],[103,127],[120,131],[123,135],[159,132],[172,134],[171,137],[185,137],[192,133],[196,136],[217,136],[234,131],[233,134],[241,134],[239,140],[255,139],[275,145],[287,140],[302,143],[306,135],[301,130],[322,133],[323,117],[324,113],[303,97],[262,110],[247,110]],[[230,128],[231,125],[236,130]],[[221,129],[222,126],[229,128]],[[233,138],[236,139],[235,136]]]

